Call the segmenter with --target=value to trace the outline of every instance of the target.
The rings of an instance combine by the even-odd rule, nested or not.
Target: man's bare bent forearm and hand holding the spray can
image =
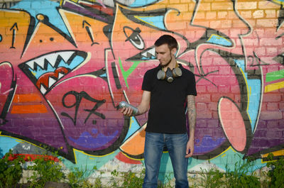
[[[150,107],[151,92],[143,91],[141,103],[137,106],[138,113],[135,116],[144,114]],[[121,113],[125,116],[133,116],[133,110],[131,108],[122,108]]]

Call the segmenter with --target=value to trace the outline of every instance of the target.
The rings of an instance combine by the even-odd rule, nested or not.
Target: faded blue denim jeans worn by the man
[[[163,154],[164,145],[168,148],[170,160],[175,175],[175,187],[188,187],[187,162],[185,158],[188,136],[185,134],[148,133],[145,139],[145,167],[146,174],[143,188],[158,187],[158,174],[160,170],[160,159]]]

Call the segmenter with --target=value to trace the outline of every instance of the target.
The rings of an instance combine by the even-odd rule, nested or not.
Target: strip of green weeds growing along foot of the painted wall
[[[8,160],[12,155],[11,150],[6,153],[5,157],[0,159],[0,188],[13,188],[16,187],[18,181],[22,177],[23,162],[24,159],[20,155],[14,160]],[[57,153],[53,153],[57,157]],[[97,167],[94,166],[92,170],[88,170],[87,167],[81,170],[78,167],[72,169],[67,175],[62,170],[60,162],[54,160],[47,160],[46,156],[42,155],[33,160],[33,165],[28,167],[28,170],[32,170],[33,174],[28,178],[29,187],[44,187],[45,182],[67,182],[72,188],[136,188],[142,187],[143,179],[145,176],[145,170],[139,173],[135,172],[118,172],[114,170],[111,172],[110,181],[107,184],[102,183],[102,174],[94,177],[94,182],[89,182],[88,178],[94,172],[97,171]],[[208,187],[208,188],[267,188],[267,187],[281,187],[284,184],[284,160],[273,160],[273,155],[268,155],[267,163],[268,172],[262,172],[260,175],[256,175],[253,172],[255,163],[249,159],[238,160],[234,164],[234,169],[229,169],[226,165],[225,172],[220,172],[216,168],[210,168],[209,170],[202,170],[200,172],[200,178],[191,178],[191,181],[195,181],[194,187]],[[260,178],[260,177],[264,178]],[[173,182],[172,176],[167,174],[165,176],[165,183],[160,183],[158,188],[173,188],[171,185]]]

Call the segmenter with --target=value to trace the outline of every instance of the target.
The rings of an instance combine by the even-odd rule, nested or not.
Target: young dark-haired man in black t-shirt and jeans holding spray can
[[[143,94],[136,116],[146,113],[149,109],[144,150],[144,188],[158,186],[164,145],[168,148],[173,164],[175,187],[188,187],[187,162],[194,151],[197,92],[194,74],[178,65],[175,60],[177,49],[177,40],[172,36],[162,35],[158,38],[155,41],[155,53],[160,65],[148,70],[143,78]],[[186,101],[190,123],[189,139],[186,128]],[[123,108],[121,112],[126,116],[133,115],[130,108]]]

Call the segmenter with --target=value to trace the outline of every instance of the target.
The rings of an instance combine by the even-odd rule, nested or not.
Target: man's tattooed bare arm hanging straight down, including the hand
[[[196,124],[196,107],[195,96],[187,95],[187,115],[190,125],[190,139],[187,142],[187,151],[185,157],[191,157],[195,150],[195,124]]]

